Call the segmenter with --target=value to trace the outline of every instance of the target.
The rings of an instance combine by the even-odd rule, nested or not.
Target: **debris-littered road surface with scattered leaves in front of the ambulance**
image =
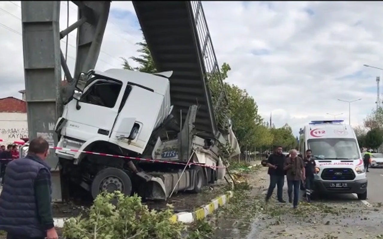
[[[269,183],[266,168],[246,177],[252,189],[245,195],[237,194],[232,203],[210,218],[216,227],[211,238],[383,238],[382,203],[368,207],[357,198],[320,195],[310,204],[301,199],[294,210],[288,202],[277,202],[277,189],[270,201],[264,202]],[[287,198],[285,183],[284,199]]]

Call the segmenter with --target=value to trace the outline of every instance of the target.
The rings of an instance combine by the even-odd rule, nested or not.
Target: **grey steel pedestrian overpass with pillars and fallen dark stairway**
[[[110,1],[72,1],[78,20],[60,31],[59,1],[22,1],[23,55],[29,138],[45,137],[57,145],[54,125],[63,102],[73,92],[81,72],[94,69],[100,54],[110,10]],[[173,71],[170,78],[171,104],[180,125],[189,106],[199,107],[195,127],[199,134],[219,138],[225,126],[216,118],[227,107],[219,65],[206,23],[202,3],[187,1],[133,1],[142,32],[159,72]],[[71,74],[60,40],[77,29],[75,70]],[[219,77],[221,89],[209,88],[209,73]],[[62,86],[62,75],[68,81]],[[212,101],[214,99],[214,102]],[[51,151],[54,201],[62,200],[58,159]]]

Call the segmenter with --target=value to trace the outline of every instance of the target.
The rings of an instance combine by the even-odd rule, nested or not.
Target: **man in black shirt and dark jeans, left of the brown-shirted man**
[[[285,170],[283,170],[283,164],[285,163],[285,159],[285,155],[282,154],[282,146],[278,146],[275,149],[275,153],[272,153],[267,159],[266,166],[268,166],[267,173],[270,175],[270,186],[267,190],[266,202],[268,202],[271,195],[273,194],[276,184],[278,201],[281,203],[286,202],[282,198],[283,184],[285,184]]]

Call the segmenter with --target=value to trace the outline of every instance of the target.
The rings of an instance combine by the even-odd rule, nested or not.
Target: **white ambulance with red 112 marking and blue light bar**
[[[367,177],[357,137],[343,120],[311,121],[300,130],[299,150],[315,156],[314,191],[367,198]]]

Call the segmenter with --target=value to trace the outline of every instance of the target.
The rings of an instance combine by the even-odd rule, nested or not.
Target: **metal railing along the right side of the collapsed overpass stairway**
[[[209,87],[209,90],[212,98],[214,99],[213,109],[217,124],[221,128],[225,129],[228,125],[228,115],[225,114],[225,110],[228,107],[228,98],[226,96],[226,91],[214,52],[213,42],[211,41],[210,32],[206,23],[205,13],[203,11],[201,1],[191,1],[191,8],[193,11],[196,31],[201,47],[201,54],[205,66],[206,81],[209,84],[213,75],[217,76],[219,80],[219,89],[213,91]],[[224,117],[224,119],[221,119],[222,117]]]

